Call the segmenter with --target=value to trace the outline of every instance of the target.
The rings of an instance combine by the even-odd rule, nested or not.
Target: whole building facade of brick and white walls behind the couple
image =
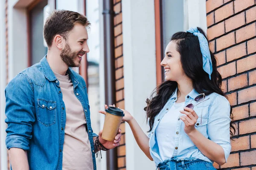
[[[42,29],[47,13],[68,9],[86,14],[92,23],[90,53],[79,69],[87,82],[96,133],[104,116],[103,0],[3,0],[0,3],[0,170],[8,170],[5,146],[7,83],[24,68],[40,61],[47,48]],[[200,26],[207,32],[218,60],[222,89],[233,107],[236,134],[226,164],[217,169],[256,170],[256,0],[113,0],[116,106],[125,108],[146,132],[145,99],[163,80],[160,62],[170,37]],[[37,55],[40,54],[40,55]],[[110,105],[110,103],[106,103]],[[118,170],[155,170],[122,122],[122,141],[115,160]],[[97,169],[108,170],[107,154]]]

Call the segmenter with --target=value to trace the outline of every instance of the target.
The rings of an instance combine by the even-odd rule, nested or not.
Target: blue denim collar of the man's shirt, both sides
[[[43,59],[41,59],[40,64],[42,66],[42,69],[44,71],[44,76],[50,81],[55,81],[57,80],[57,77],[55,77],[52,69],[50,68],[50,65],[46,59],[47,55],[44,56]],[[67,74],[69,74],[69,77],[74,85],[74,87],[76,87],[79,83],[79,81],[77,80],[76,76],[73,74],[73,72],[71,71],[70,68],[67,69]]]

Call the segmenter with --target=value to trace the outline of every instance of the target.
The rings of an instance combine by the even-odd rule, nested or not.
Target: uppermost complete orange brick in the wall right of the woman
[[[218,23],[221,20],[233,15],[233,2],[229,3],[215,11],[215,23]]]

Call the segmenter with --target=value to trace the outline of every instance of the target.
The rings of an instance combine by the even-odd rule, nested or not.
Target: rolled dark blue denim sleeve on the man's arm
[[[6,86],[6,147],[29,150],[35,122],[34,92],[26,77],[18,74]]]

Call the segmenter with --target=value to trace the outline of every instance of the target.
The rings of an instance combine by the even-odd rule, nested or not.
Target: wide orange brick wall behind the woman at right
[[[256,0],[207,0],[207,34],[223,90],[233,106],[236,136],[223,170],[256,170]]]

